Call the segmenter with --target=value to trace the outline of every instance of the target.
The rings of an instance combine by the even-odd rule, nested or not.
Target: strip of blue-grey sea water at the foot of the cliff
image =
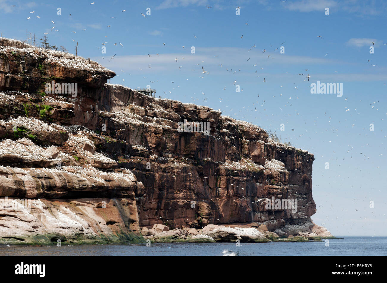
[[[387,237],[326,242],[155,243],[89,246],[0,246],[1,256],[387,256]]]

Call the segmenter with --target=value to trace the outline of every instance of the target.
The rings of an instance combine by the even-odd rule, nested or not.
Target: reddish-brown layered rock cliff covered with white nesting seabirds
[[[331,236],[310,219],[313,154],[211,108],[106,84],[113,76],[0,38],[0,243]],[[46,93],[52,81],[76,93]],[[185,120],[209,132],[183,131]]]

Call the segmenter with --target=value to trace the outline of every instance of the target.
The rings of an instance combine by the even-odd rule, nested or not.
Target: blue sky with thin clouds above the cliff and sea
[[[0,32],[21,41],[26,31],[48,33],[70,53],[78,41],[78,55],[116,72],[110,83],[150,85],[163,98],[275,130],[315,155],[315,223],[336,236],[387,236],[386,2],[92,1],[0,0]],[[311,94],[317,80],[342,83],[342,97]]]

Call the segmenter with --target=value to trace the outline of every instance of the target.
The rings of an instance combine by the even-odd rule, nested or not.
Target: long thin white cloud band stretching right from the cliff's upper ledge
[[[190,49],[185,53],[166,53],[166,54],[148,54],[132,55],[132,56],[116,56],[111,62],[100,62],[103,66],[113,71],[125,69],[126,71],[136,72],[142,69],[142,72],[162,73],[172,72],[178,70],[179,72],[192,73],[192,70],[197,75],[202,75],[202,66],[205,71],[214,73],[226,73],[228,68],[229,73],[237,71],[238,73],[252,74],[252,76],[261,76],[267,69],[282,66],[308,66],[309,64],[320,65],[337,65],[346,64],[339,60],[332,60],[327,58],[313,58],[307,56],[283,56],[279,53],[272,53],[269,59],[265,54],[258,52],[258,50],[250,51],[251,54],[246,56],[245,48],[238,47],[200,47],[196,49],[196,54],[191,54]],[[215,57],[217,55],[217,57]],[[184,56],[184,59],[183,59]],[[107,58],[107,56],[105,56]],[[274,59],[272,59],[274,57]],[[106,59],[105,58],[105,59]],[[175,61],[178,58],[178,61]],[[247,59],[249,61],[247,61]],[[94,58],[95,61],[100,58]],[[148,65],[151,64],[151,68]],[[220,65],[222,64],[223,67]],[[256,64],[256,66],[254,66]],[[264,66],[264,69],[260,67]],[[239,72],[239,69],[241,71]],[[257,70],[259,73],[255,73]],[[207,74],[206,74],[207,75]]]

